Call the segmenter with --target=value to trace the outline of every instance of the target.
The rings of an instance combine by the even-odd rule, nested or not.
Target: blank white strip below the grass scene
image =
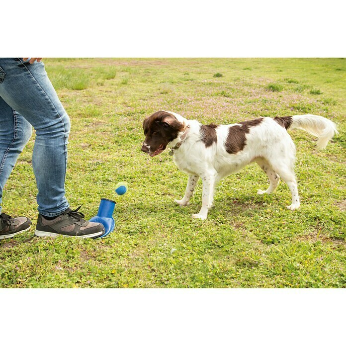
[[[0,296],[2,345],[345,341],[343,289],[2,289]]]

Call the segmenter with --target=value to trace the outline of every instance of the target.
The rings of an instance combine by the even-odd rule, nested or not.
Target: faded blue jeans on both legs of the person
[[[32,168],[38,211],[56,216],[69,207],[65,197],[69,116],[42,62],[0,58],[0,212],[3,187],[32,127],[36,131]]]

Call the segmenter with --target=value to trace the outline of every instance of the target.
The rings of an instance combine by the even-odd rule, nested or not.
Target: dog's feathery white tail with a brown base
[[[326,148],[333,136],[339,133],[337,125],[333,121],[320,115],[293,115],[275,118],[275,121],[285,127],[286,130],[289,128],[301,129],[318,137],[316,146],[319,149]]]

